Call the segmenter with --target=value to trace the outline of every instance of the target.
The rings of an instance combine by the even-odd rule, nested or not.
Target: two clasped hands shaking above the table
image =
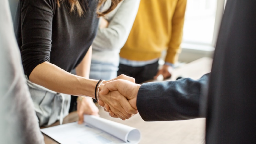
[[[102,84],[102,87],[99,105],[111,117],[125,120],[138,113],[136,101],[141,85],[136,84],[133,77],[122,74]]]

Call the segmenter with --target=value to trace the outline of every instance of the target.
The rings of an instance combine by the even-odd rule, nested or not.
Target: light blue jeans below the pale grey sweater
[[[118,64],[92,60],[90,79],[106,81],[114,79],[117,76]]]

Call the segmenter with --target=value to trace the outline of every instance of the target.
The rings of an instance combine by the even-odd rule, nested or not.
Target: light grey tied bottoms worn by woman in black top
[[[32,83],[27,77],[26,82],[29,86],[29,92],[40,126],[51,125],[57,120],[62,124],[64,117],[68,115],[70,95],[51,91],[43,86]]]

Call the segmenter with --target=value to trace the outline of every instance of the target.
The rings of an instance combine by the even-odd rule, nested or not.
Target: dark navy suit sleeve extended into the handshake
[[[198,118],[201,93],[208,85],[209,75],[198,80],[150,82],[140,87],[137,108],[145,121],[185,120]]]

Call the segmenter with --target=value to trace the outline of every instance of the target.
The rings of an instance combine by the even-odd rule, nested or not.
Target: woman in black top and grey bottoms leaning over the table
[[[104,1],[19,1],[15,35],[41,126],[56,120],[62,123],[68,114],[70,95],[94,98],[98,80],[88,79],[90,46],[97,32],[98,17],[110,12],[121,0],[112,0],[110,8],[100,12]],[[77,75],[70,73],[72,69],[76,69]],[[89,97],[78,103],[79,123],[83,114],[98,115],[98,108]],[[130,115],[120,111],[120,117]]]

